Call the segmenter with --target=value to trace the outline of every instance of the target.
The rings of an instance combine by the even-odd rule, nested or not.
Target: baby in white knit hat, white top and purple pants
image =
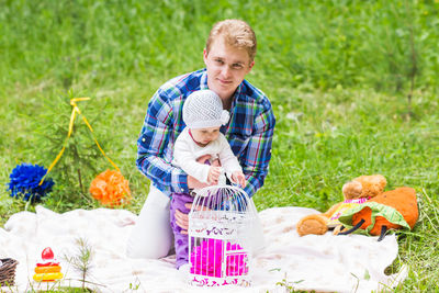
[[[238,159],[219,132],[221,125],[228,122],[229,114],[223,110],[221,98],[211,90],[191,93],[183,105],[185,128],[176,139],[172,165],[200,182],[225,184],[225,172],[233,183],[244,188],[247,183]],[[207,158],[204,164],[200,158]],[[219,166],[221,165],[221,166]],[[223,179],[222,179],[223,178]],[[176,210],[189,213],[184,206],[192,203],[193,196],[188,193],[173,193],[170,203],[170,221],[175,235],[176,267],[188,263],[188,235],[181,233],[176,224]]]

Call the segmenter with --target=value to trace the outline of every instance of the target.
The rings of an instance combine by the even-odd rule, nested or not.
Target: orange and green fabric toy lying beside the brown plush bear
[[[413,188],[398,188],[346,211],[339,221],[350,229],[339,235],[362,229],[368,235],[380,235],[381,241],[389,229],[413,229],[418,217],[416,191]]]

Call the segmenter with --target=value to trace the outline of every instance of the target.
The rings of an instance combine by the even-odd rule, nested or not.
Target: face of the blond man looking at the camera
[[[234,94],[255,61],[250,60],[247,50],[229,46],[218,36],[209,53],[204,49],[204,64],[209,88],[226,100]]]

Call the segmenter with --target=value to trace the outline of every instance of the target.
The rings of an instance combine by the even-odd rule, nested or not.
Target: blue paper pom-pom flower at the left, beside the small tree
[[[12,198],[23,196],[24,201],[37,202],[52,191],[55,184],[50,178],[45,178],[43,184],[38,185],[47,169],[35,164],[23,162],[15,166],[9,176],[10,182],[8,190]]]

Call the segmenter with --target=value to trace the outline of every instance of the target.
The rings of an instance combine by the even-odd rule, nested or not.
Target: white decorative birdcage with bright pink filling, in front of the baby
[[[188,229],[190,283],[250,285],[255,205],[237,187],[207,187],[195,193]]]

